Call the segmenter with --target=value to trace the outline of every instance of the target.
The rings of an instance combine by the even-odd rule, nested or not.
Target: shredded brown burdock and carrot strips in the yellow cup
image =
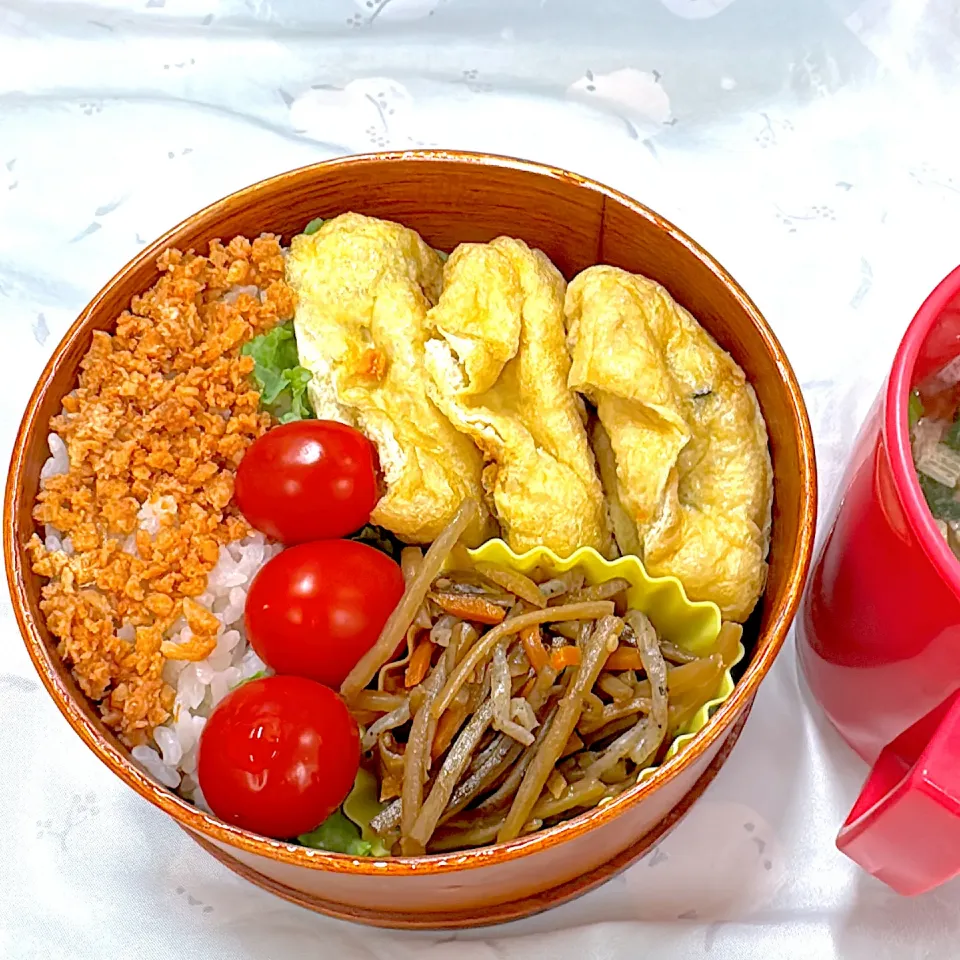
[[[373,718],[362,762],[391,802],[371,828],[395,854],[511,840],[612,799],[739,650],[729,624],[702,655],[665,641],[619,578],[474,563],[457,543],[473,509],[425,556],[404,550],[406,594],[343,686]]]

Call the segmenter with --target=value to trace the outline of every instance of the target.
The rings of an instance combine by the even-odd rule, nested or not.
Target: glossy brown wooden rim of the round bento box
[[[69,390],[69,386],[64,389],[65,381],[68,379],[70,382],[73,381],[77,364],[88,348],[91,330],[94,328],[111,328],[121,310],[128,305],[130,295],[145,290],[153,282],[153,279],[142,282],[143,279],[148,275],[152,275],[154,279],[158,276],[155,261],[163,250],[170,246],[196,246],[202,241],[205,242],[216,236],[221,236],[221,233],[218,232],[220,226],[228,224],[238,211],[254,201],[260,201],[258,206],[263,206],[262,201],[264,200],[270,201],[263,216],[264,222],[269,226],[271,214],[274,214],[278,220],[282,216],[282,214],[273,210],[273,206],[282,204],[282,198],[285,195],[289,196],[291,191],[310,189],[311,187],[319,189],[326,179],[335,179],[337,176],[356,176],[369,181],[371,188],[373,188],[377,180],[377,171],[383,171],[385,165],[392,165],[394,171],[398,171],[398,165],[401,165],[404,173],[407,169],[409,170],[411,182],[415,182],[422,173],[431,169],[436,172],[438,164],[455,168],[451,170],[451,173],[468,173],[477,169],[481,172],[481,175],[504,179],[515,178],[518,186],[530,190],[534,190],[538,184],[543,185],[543,178],[546,178],[554,182],[562,181],[577,188],[578,191],[584,191],[584,194],[577,197],[578,203],[583,201],[579,205],[584,206],[585,209],[589,208],[588,212],[591,219],[596,221],[597,236],[593,262],[605,261],[604,235],[608,226],[608,215],[611,210],[616,210],[619,213],[618,208],[623,208],[631,215],[642,218],[658,231],[666,234],[715,276],[720,284],[726,288],[726,291],[735,298],[743,313],[750,317],[756,336],[768,358],[779,371],[788,395],[789,415],[792,417],[791,433],[796,437],[799,446],[798,475],[789,479],[790,487],[797,495],[797,537],[793,544],[792,555],[789,558],[777,558],[781,564],[786,562],[792,572],[785,589],[777,598],[776,606],[772,610],[765,611],[762,635],[753,650],[750,651],[749,663],[733,693],[717,709],[713,717],[687,748],[664,763],[649,779],[602,807],[597,807],[554,827],[509,843],[453,854],[384,860],[357,859],[341,854],[308,851],[306,848],[293,843],[261,838],[231,827],[182,800],[141,772],[140,768],[124,754],[123,748],[113,735],[105,730],[103,724],[96,717],[93,708],[86,702],[82,694],[71,689],[73,681],[69,679],[66,668],[59,661],[59,657],[49,641],[46,628],[42,626],[42,620],[36,608],[37,578],[24,563],[23,544],[34,530],[30,514],[39,483],[39,464],[43,462],[45,456],[43,454],[38,460],[38,451],[42,454],[46,442],[47,419],[54,412],[54,409],[59,409],[62,395]],[[514,199],[510,206],[514,207],[516,202],[516,199]],[[560,203],[559,195],[556,203]],[[425,206],[429,206],[429,204]],[[362,212],[362,210],[359,212]],[[470,212],[465,211],[463,222],[469,223],[469,218]],[[229,230],[224,231],[224,233],[229,232]],[[284,233],[288,234],[289,231],[284,231]],[[287,235],[285,238],[289,239],[289,236]],[[225,237],[225,239],[229,239],[229,237]],[[429,237],[427,239],[430,240]],[[473,238],[468,237],[467,239]],[[563,265],[558,265],[563,270]],[[95,326],[90,325],[91,318],[97,321]],[[709,329],[708,324],[705,324],[705,326]],[[742,357],[737,356],[736,359],[742,364]],[[70,377],[58,377],[58,371],[67,368],[71,370]],[[59,392],[57,392],[58,389]],[[28,489],[26,483],[29,474],[32,474],[32,477],[31,486]],[[784,478],[778,479],[783,480]],[[731,725],[752,700],[760,681],[766,675],[780,650],[796,612],[810,564],[816,521],[816,503],[817,488],[813,441],[796,377],[779,342],[756,306],[723,267],[699,244],[637,201],[586,177],[555,167],[476,153],[441,150],[404,151],[364,154],[324,161],[246,187],[193,214],[172,230],[169,230],[124,266],[103,287],[57,346],[40,375],[27,405],[14,443],[7,477],[4,498],[4,560],[17,622],[27,645],[27,650],[44,686],[70,726],[76,730],[84,742],[114,773],[133,787],[142,797],[173,816],[181,825],[201,836],[249,853],[300,867],[339,873],[376,876],[410,876],[416,874],[422,876],[425,873],[447,873],[479,868],[492,862],[512,860],[563,843],[569,837],[579,835],[584,831],[590,831],[616,818],[621,811],[639,803],[657,790],[661,784],[676,777],[708,747],[714,744],[718,738],[725,736]],[[775,524],[776,509],[775,503]],[[33,584],[32,589],[31,583]]]

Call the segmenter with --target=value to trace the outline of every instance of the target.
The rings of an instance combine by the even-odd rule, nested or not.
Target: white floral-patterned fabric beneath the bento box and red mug
[[[914,310],[960,262],[956,0],[0,0],[0,457],[55,343],[197,208],[345,153],[566,166],[675,221],[782,339],[822,507]],[[395,934],[236,879],[69,730],[0,600],[0,957],[956,955],[960,885],[836,852],[865,769],[792,646],[680,827],[504,927]]]

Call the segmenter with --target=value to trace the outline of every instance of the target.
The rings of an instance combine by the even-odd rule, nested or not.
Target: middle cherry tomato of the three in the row
[[[288,547],[247,593],[247,639],[277,673],[339,687],[373,646],[403,595],[386,554],[352,540]]]

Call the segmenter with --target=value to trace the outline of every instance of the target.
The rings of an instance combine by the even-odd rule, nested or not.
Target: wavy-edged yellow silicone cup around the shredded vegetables
[[[561,560],[546,547],[534,547],[526,553],[514,553],[502,540],[488,540],[485,544],[468,551],[473,560],[499,563],[519,573],[530,573],[536,567],[553,574],[565,573],[578,567],[588,583],[597,584],[623,577],[630,581],[627,601],[632,609],[645,613],[657,632],[665,640],[703,655],[713,649],[720,633],[720,608],[704,600],[689,600],[683,584],[676,577],[651,577],[639,558],[629,556],[618,560],[604,559],[593,547],[581,547],[565,560]],[[743,658],[743,644],[739,645],[735,666]],[[708,700],[674,737],[667,750],[666,759],[676,756],[693,739],[710,715],[733,692],[733,677],[730,670],[724,671],[713,699]],[[637,780],[644,780],[656,769],[642,770]]]

